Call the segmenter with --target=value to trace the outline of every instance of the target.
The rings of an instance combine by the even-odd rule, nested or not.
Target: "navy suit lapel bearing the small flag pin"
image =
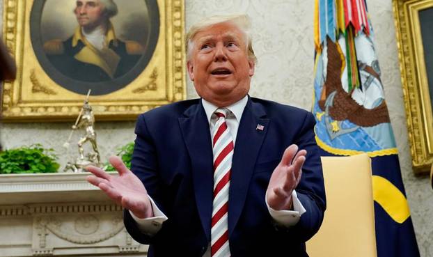
[[[228,200],[228,233],[231,235],[244,207],[257,156],[267,132],[269,119],[260,104],[248,100],[242,114],[232,161]],[[263,127],[258,128],[258,125]],[[265,197],[265,196],[264,196]]]

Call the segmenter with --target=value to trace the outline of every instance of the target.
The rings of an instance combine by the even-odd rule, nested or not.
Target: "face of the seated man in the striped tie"
[[[196,33],[192,41],[187,68],[198,95],[219,107],[244,98],[254,74],[244,33],[223,22]]]

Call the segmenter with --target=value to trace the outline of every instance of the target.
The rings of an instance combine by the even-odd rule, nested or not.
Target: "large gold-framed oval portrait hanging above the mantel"
[[[183,0],[3,5],[17,63],[17,78],[3,84],[3,121],[73,120],[89,89],[97,120],[133,120],[186,98]]]

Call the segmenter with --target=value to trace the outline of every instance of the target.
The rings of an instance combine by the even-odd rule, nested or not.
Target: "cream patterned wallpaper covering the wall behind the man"
[[[2,1],[2,0],[0,0]],[[391,0],[368,0],[376,32],[377,54],[391,122],[400,150],[402,177],[411,207],[421,256],[433,256],[433,191],[427,176],[414,176],[407,140],[406,117],[397,58]],[[253,22],[253,46],[258,65],[251,95],[310,109],[313,90],[313,0],[186,0],[187,28],[203,17],[223,13],[247,13]],[[189,82],[188,98],[196,98]],[[72,123],[24,123],[1,125],[6,148],[42,143],[54,148],[61,164],[76,155],[76,148],[62,148]],[[134,122],[97,123],[100,152],[107,158],[116,148],[134,140]],[[76,141],[78,135],[74,135]]]

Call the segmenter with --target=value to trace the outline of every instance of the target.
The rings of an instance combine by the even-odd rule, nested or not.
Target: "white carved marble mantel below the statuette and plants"
[[[0,256],[146,256],[88,173],[0,176]]]

